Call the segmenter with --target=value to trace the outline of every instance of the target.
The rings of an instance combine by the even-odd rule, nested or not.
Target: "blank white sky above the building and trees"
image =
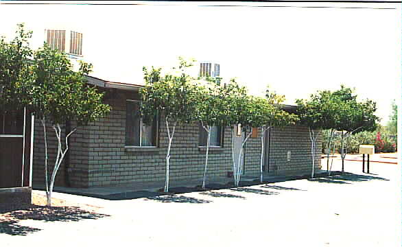
[[[25,23],[37,48],[45,28],[83,32],[84,60],[104,80],[142,84],[143,66],[171,67],[184,56],[219,62],[222,77],[255,95],[270,84],[287,104],[340,84],[355,87],[361,99],[377,102],[381,124],[392,99],[401,98],[400,3],[1,3],[0,35],[12,38],[16,23]],[[338,8],[300,8],[307,6]]]

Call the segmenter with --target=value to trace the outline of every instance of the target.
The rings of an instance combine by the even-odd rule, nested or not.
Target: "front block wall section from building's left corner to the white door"
[[[88,127],[90,187],[165,181],[165,155],[169,139],[164,121],[160,123],[157,148],[125,148],[126,99],[129,97],[130,95],[120,93],[113,99],[108,99],[107,103],[113,108],[110,115]],[[169,171],[169,180],[172,183],[180,180],[202,180],[205,151],[198,148],[198,135],[197,124],[176,126]],[[223,148],[211,149],[209,152],[209,182],[226,179],[227,172],[232,171],[230,143],[230,128],[225,128]]]

